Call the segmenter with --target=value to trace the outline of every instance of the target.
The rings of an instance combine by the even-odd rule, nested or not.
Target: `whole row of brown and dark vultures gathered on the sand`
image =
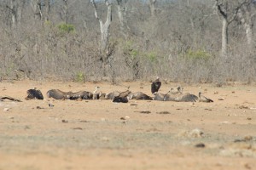
[[[51,89],[46,94],[48,98],[53,99],[112,99],[115,103],[127,103],[130,99],[143,99],[143,100],[160,100],[160,101],[176,101],[176,102],[213,102],[212,99],[201,95],[185,93],[183,94],[183,88],[178,86],[177,88],[171,88],[166,94],[160,94],[158,91],[161,87],[159,77],[151,84],[151,93],[153,97],[143,94],[142,92],[132,93],[129,88],[125,92],[114,91],[109,94],[104,94],[99,91],[99,87],[96,87],[94,92],[79,91],[79,92],[63,92],[59,89]],[[40,90],[33,88],[26,92],[26,99],[44,99]],[[14,101],[20,101],[11,97],[0,97],[0,100],[10,99]]]

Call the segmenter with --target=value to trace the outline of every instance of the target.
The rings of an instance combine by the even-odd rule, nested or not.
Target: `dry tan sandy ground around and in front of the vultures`
[[[160,92],[177,85],[163,83]],[[150,82],[0,82],[0,96],[23,101],[0,102],[0,170],[255,168],[256,87],[182,85],[184,92],[201,91],[214,102],[46,99],[52,88],[100,86],[108,93],[130,86],[150,94]],[[34,87],[44,100],[24,99]]]

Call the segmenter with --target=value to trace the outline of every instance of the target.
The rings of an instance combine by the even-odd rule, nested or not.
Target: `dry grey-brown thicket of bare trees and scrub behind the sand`
[[[255,9],[253,0],[0,0],[0,77],[254,82]]]

